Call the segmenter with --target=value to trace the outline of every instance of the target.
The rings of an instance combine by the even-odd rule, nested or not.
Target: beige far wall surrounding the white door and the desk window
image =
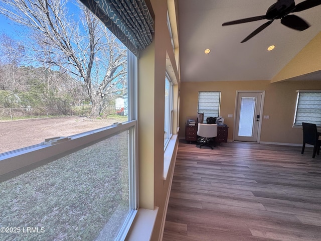
[[[183,80],[184,81],[184,80]],[[296,90],[321,89],[320,81],[218,81],[218,82],[182,82],[180,109],[180,137],[185,137],[185,120],[187,116],[196,116],[199,91],[221,91],[220,115],[229,126],[228,139],[233,139],[235,98],[237,90],[265,90],[263,115],[261,118],[261,142],[302,143],[302,130],[292,128]],[[233,114],[233,118],[228,118]]]

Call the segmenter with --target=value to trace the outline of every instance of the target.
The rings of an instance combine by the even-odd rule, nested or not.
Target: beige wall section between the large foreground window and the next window
[[[158,207],[151,240],[162,236],[166,218],[166,205],[171,188],[178,142],[176,142],[169,175],[164,179],[164,109],[165,75],[170,61],[176,78],[174,88],[174,121],[178,120],[178,56],[174,56],[167,27],[166,0],[150,0],[154,14],[153,42],[140,52],[138,59],[138,162],[139,162],[139,207],[153,210]],[[168,60],[167,60],[168,53]],[[172,74],[173,74],[172,73]],[[174,124],[177,128],[177,124]],[[176,134],[176,128],[173,131]]]

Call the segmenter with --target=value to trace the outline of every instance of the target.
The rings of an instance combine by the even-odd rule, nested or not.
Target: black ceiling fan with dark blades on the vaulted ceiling
[[[257,35],[259,32],[269,26],[275,19],[281,19],[281,24],[285,25],[286,27],[298,31],[303,31],[310,27],[309,24],[300,17],[289,14],[310,9],[318,5],[321,5],[321,0],[306,0],[297,5],[295,5],[294,0],[278,0],[275,4],[268,8],[265,15],[227,22],[222,24],[222,26],[248,23],[263,19],[269,20],[268,22],[262,24],[260,27],[254,30],[245,39],[243,39],[241,43],[244,43],[253,36]]]

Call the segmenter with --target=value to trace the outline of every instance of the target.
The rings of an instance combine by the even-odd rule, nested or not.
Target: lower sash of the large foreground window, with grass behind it
[[[138,208],[134,106],[130,121],[0,154],[1,226],[19,227],[6,240],[124,238]]]

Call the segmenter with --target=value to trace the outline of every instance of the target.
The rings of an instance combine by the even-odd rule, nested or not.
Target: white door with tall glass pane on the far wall
[[[258,142],[264,92],[238,92],[234,141]]]

